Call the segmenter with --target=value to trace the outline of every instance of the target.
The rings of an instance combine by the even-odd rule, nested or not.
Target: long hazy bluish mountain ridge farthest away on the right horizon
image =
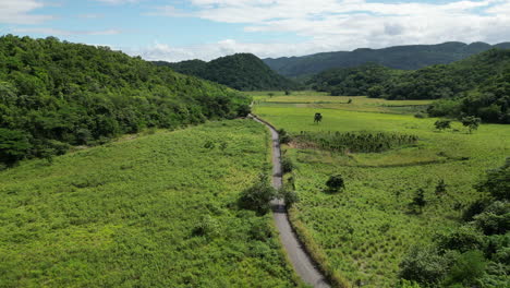
[[[362,48],[354,51],[316,53],[303,57],[268,58],[264,62],[286,76],[316,74],[333,68],[357,67],[367,62],[388,68],[416,70],[433,64],[447,64],[490,48],[510,48],[510,43],[490,46],[486,43],[444,43],[438,45],[396,46],[384,49]]]

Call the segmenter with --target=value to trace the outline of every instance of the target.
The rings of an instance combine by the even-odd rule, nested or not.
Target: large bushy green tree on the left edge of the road
[[[255,211],[264,215],[270,209],[270,202],[277,196],[276,190],[269,184],[265,175],[260,175],[255,183],[241,193],[239,206],[244,209]]]

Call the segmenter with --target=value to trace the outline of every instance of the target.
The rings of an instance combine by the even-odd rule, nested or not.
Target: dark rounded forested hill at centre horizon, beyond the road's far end
[[[168,65],[177,72],[210,80],[240,91],[291,89],[296,86],[251,53],[221,57],[210,62],[190,60],[179,63],[162,61],[154,63]]]

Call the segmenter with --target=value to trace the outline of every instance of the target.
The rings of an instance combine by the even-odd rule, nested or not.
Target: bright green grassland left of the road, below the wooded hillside
[[[0,172],[0,287],[294,287],[270,216],[235,205],[268,141],[211,122]]]

